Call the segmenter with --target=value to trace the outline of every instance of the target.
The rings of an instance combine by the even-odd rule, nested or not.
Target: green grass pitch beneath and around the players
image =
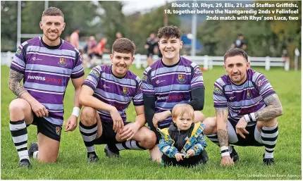
[[[142,77],[143,69],[131,70]],[[18,154],[13,146],[8,127],[8,105],[16,96],[8,89],[9,68],[1,66],[1,179],[45,179],[45,180],[301,180],[301,71],[285,72],[275,68],[264,73],[276,90],[283,105],[284,115],[278,118],[279,137],[276,145],[276,166],[262,165],[264,147],[235,146],[240,161],[233,167],[219,166],[218,146],[206,140],[209,163],[197,168],[163,168],[149,161],[149,151],[121,151],[122,158],[106,158],[104,145],[97,145],[100,161],[86,162],[86,149],[78,128],[74,132],[63,132],[58,161],[42,164],[31,160],[32,169],[18,169]],[[89,70],[86,70],[87,73]],[[214,81],[225,71],[222,67],[204,73],[206,87],[204,114],[215,116],[212,99]],[[65,120],[73,109],[73,85],[70,83],[64,99]],[[134,120],[132,105],[127,111],[128,120]],[[37,141],[37,128],[28,127],[29,143]]]

